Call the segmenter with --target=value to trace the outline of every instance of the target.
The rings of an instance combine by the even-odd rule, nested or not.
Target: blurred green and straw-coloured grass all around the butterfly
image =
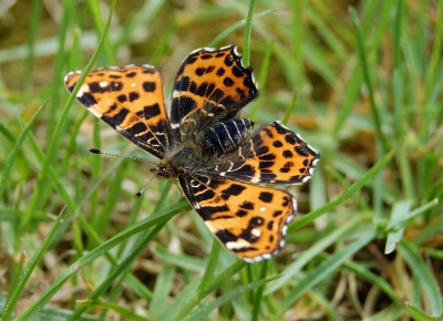
[[[276,259],[236,260],[195,213],[176,215],[189,206],[172,183],[154,178],[133,199],[150,165],[87,152],[154,161],[64,90],[110,13],[94,68],[154,64],[169,93],[192,50],[243,48],[247,12],[234,0],[0,6],[4,320],[442,314],[439,1],[256,1],[250,65],[261,94],[243,115],[286,120],[321,153],[309,184],[288,188],[300,215]]]

